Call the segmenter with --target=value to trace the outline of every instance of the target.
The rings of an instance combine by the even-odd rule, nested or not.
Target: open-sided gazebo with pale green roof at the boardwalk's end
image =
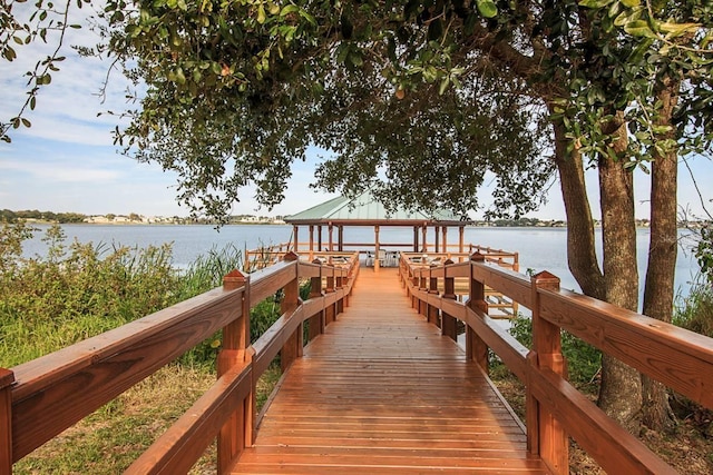
[[[310,234],[309,251],[315,250],[343,251],[345,247],[369,246],[374,249],[374,270],[379,269],[382,246],[401,247],[412,249],[414,253],[443,253],[449,251],[448,228],[458,228],[458,253],[463,253],[465,227],[469,220],[459,219],[448,211],[438,211],[429,217],[420,211],[395,210],[387,212],[384,206],[378,201],[368,190],[353,199],[343,196],[332,198],[321,205],[313,206],[304,211],[285,218],[293,226],[293,244],[295,251],[300,251],[300,227],[307,227]],[[345,227],[373,227],[374,239],[372,243],[345,243]],[[413,228],[412,243],[381,243],[379,231],[382,227],[399,226]],[[323,243],[323,228],[326,227],[328,238]],[[428,243],[428,229],[432,228],[433,241]],[[334,238],[336,229],[336,239]],[[315,239],[316,230],[316,239]]]

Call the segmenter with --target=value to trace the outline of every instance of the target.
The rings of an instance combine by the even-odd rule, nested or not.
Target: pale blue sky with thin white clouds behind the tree
[[[159,165],[139,164],[123,156],[113,145],[111,131],[123,122],[106,112],[131,107],[125,99],[130,85],[119,71],[113,71],[102,100],[98,91],[109,63],[79,58],[69,48],[96,42],[96,34],[87,28],[69,31],[62,50],[67,60],[60,65],[60,71],[53,73],[52,83],[40,91],[36,110],[25,115],[32,126],[11,131],[11,144],[0,142],[0,209],[188,216],[189,209],[176,201],[176,175],[163,171]],[[0,60],[0,117],[3,121],[14,117],[22,105],[27,91],[25,72],[50,50],[49,46],[40,43],[18,47],[17,51],[16,61]],[[314,178],[314,165],[323,156],[323,151],[311,149],[306,162],[295,164],[285,200],[272,210],[260,208],[248,188],[240,194],[241,201],[233,206],[232,214],[291,215],[332,198],[334,195],[309,187]],[[713,198],[713,190],[707,188],[713,179],[713,164],[697,158],[691,160],[690,166],[707,202]],[[596,171],[587,174],[587,181],[593,212],[598,218]],[[636,217],[647,218],[648,176],[637,171],[635,184]],[[486,180],[481,202],[488,204],[492,185]],[[702,216],[701,199],[685,167],[681,168],[678,188],[680,207]],[[479,211],[471,212],[471,218],[480,216]],[[528,216],[565,219],[558,182],[551,185],[548,202]]]

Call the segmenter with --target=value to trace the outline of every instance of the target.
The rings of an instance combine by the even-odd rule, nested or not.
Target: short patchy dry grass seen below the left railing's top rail
[[[280,366],[272,365],[258,380],[257,412],[280,376]],[[205,367],[166,366],[18,462],[13,473],[121,473],[205,393],[215,378],[215,373]],[[212,445],[191,473],[215,473],[215,446]]]

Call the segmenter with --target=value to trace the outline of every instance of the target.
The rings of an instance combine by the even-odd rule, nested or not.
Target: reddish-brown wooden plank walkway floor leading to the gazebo
[[[233,473],[546,474],[479,369],[362,269],[344,314],[287,370]]]

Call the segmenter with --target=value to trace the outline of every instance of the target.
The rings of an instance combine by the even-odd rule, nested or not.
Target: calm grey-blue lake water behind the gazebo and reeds
[[[45,255],[47,246],[41,241],[47,226],[38,226],[40,231],[35,238],[26,241],[25,255]],[[212,226],[117,226],[117,225],[64,225],[68,239],[77,239],[80,243],[115,244],[130,247],[146,247],[173,243],[174,265],[185,267],[196,256],[206,254],[211,249],[221,249],[227,245],[234,245],[238,249],[254,249],[263,245],[275,245],[292,239],[292,227],[286,225],[241,225],[225,226],[216,230]],[[449,229],[450,244],[458,240],[455,229]],[[678,249],[676,265],[676,287],[686,295],[692,279],[697,270],[695,259],[685,246],[685,235],[681,230],[680,237],[684,243]],[[466,228],[466,243],[489,246],[508,251],[519,253],[520,270],[535,271],[548,270],[561,279],[561,287],[578,290],[576,281],[567,268],[567,230],[565,228]],[[597,231],[597,237],[600,237]],[[300,241],[309,240],[305,228],[300,228]],[[329,239],[326,229],[323,229],[322,243]],[[336,240],[336,232],[334,232]],[[413,240],[412,228],[382,227],[380,231],[382,243],[411,243]],[[427,237],[433,243],[433,230],[429,230]],[[353,227],[344,229],[345,243],[372,243],[373,229],[371,227]],[[599,239],[600,241],[600,239]],[[637,231],[639,278],[645,277],[646,256],[648,249],[648,229]],[[355,246],[365,248],[365,246]],[[402,248],[403,250],[403,248]],[[599,251],[600,255],[600,251]],[[642,285],[643,289],[643,285]],[[643,290],[642,290],[643,291]]]

